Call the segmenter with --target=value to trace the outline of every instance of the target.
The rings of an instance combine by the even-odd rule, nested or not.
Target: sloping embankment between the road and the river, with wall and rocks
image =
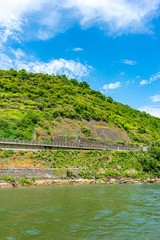
[[[146,183],[160,178],[160,150],[0,150],[1,187],[67,183]]]

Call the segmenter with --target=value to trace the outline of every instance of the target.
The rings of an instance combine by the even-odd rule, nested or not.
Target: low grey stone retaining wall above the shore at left
[[[58,179],[60,177],[66,177],[67,170],[75,174],[80,172],[79,169],[0,168],[0,177],[7,175],[15,179],[31,179],[32,177],[36,179]]]

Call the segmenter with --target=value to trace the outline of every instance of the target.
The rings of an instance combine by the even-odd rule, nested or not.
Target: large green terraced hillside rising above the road
[[[65,75],[0,70],[0,138],[158,144],[160,119]],[[78,139],[79,140],[79,139]]]

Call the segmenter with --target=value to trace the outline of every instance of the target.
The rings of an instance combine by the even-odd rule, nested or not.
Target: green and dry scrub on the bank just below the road
[[[124,176],[145,179],[160,177],[160,148],[152,147],[147,152],[0,150],[0,167],[56,168],[56,174],[66,173],[68,177],[74,177],[68,168],[79,168],[83,178]]]

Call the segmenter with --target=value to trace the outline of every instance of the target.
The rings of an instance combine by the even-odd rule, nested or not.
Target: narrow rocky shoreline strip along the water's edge
[[[110,177],[106,181],[101,179],[54,179],[54,180],[35,180],[28,183],[21,183],[18,181],[9,182],[5,180],[0,181],[0,188],[20,188],[31,186],[54,186],[54,185],[70,185],[70,184],[146,184],[146,183],[160,183],[160,178],[144,179],[125,179]]]

